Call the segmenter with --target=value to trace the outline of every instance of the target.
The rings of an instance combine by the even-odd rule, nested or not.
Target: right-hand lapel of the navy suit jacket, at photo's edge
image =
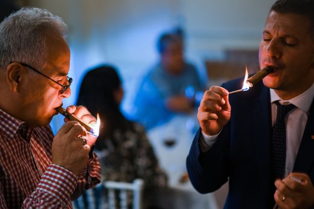
[[[314,164],[314,99],[310,108],[310,114],[305,126],[303,137],[301,140],[299,151],[296,155],[296,162],[294,172],[306,172],[311,171],[311,167]],[[312,179],[313,180],[313,179]]]

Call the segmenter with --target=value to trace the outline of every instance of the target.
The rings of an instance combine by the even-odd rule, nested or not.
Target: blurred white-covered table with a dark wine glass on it
[[[213,194],[198,193],[189,180],[180,182],[186,172],[186,157],[198,127],[196,113],[179,114],[168,123],[148,131],[159,164],[169,178],[169,190],[156,197],[163,209],[218,209]]]

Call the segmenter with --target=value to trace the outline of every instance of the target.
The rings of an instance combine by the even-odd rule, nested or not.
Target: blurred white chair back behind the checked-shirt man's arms
[[[132,209],[141,209],[142,191],[144,188],[144,181],[142,179],[135,179],[133,183],[105,181],[103,183],[105,189],[108,190],[108,204],[109,209],[128,209],[128,191],[132,192]],[[119,191],[119,204],[116,207],[116,192]]]

